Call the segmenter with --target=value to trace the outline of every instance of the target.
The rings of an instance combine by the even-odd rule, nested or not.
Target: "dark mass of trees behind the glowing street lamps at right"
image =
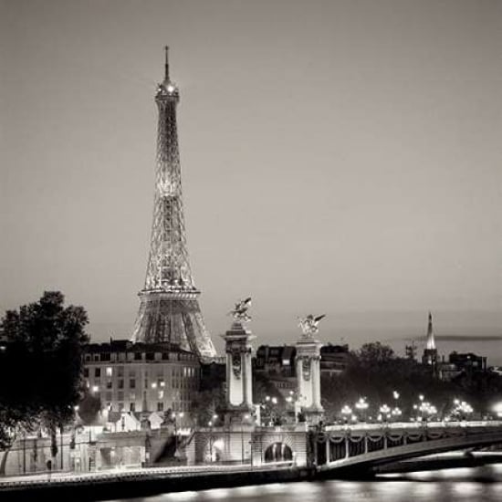
[[[398,392],[398,400],[394,392]],[[351,352],[347,369],[339,375],[321,377],[322,404],[329,420],[340,419],[342,406],[353,406],[361,397],[369,404],[368,416],[376,417],[379,407],[386,403],[398,405],[403,418],[408,419],[421,394],[442,416],[451,411],[455,398],[471,403],[476,413],[486,414],[502,397],[502,378],[485,371],[463,373],[444,382],[434,377],[430,367],[397,357],[381,342],[365,343]]]

